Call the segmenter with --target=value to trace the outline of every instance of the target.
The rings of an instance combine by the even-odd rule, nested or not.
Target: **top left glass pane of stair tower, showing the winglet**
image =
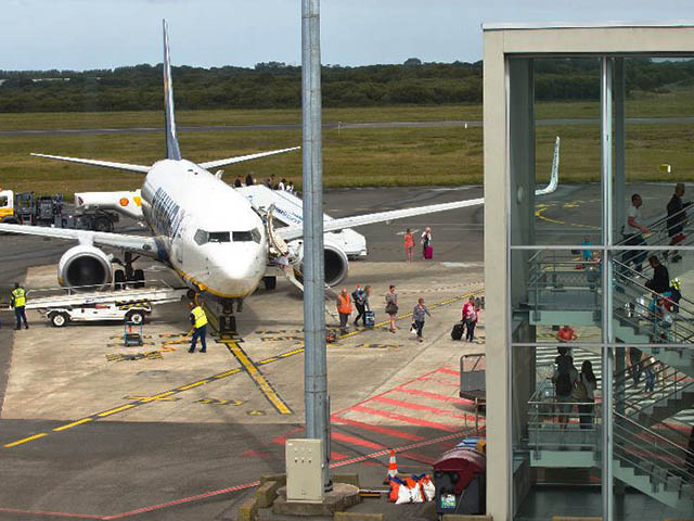
[[[510,67],[511,242],[602,244],[600,60],[523,62]]]

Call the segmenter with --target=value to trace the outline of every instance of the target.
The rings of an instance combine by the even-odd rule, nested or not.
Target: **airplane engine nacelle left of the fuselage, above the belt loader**
[[[91,287],[81,291],[93,291],[104,289],[111,280],[111,257],[94,246],[70,247],[57,264],[57,281],[66,288]]]

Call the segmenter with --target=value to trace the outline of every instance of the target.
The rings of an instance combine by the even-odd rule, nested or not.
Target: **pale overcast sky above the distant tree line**
[[[0,0],[0,68],[300,63],[300,0]],[[474,62],[481,23],[693,20],[692,0],[322,0],[324,64]]]

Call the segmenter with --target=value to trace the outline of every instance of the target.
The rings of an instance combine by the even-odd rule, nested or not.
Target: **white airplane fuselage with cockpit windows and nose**
[[[155,163],[142,186],[142,213],[159,258],[191,289],[239,298],[262,280],[268,262],[262,218],[206,169],[185,160]]]

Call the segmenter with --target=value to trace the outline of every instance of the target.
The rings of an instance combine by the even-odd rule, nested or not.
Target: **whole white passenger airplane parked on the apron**
[[[215,304],[218,326],[216,329],[220,332],[235,331],[234,304],[236,310],[241,312],[243,300],[250,295],[266,277],[270,257],[287,256],[292,266],[300,272],[303,220],[274,229],[272,208],[261,212],[241,190],[227,185],[221,179],[220,171],[211,174],[209,170],[295,151],[299,147],[197,164],[184,160],[176,130],[166,21],[163,21],[163,33],[165,158],[146,166],[31,154],[144,175],[144,182],[136,202],[141,206],[142,218],[152,231],[152,237],[9,224],[0,224],[0,231],[77,241],[78,244],[65,252],[57,266],[59,283],[68,288],[106,288],[112,282],[116,283],[116,288],[123,287],[125,282],[141,287],[144,283],[144,272],[142,269],[134,269],[133,263],[140,256],[154,258],[174,269],[193,292],[204,294],[206,302]],[[556,148],[555,160],[552,180],[548,186],[551,191],[556,188]],[[543,193],[548,193],[548,189]],[[484,198],[479,198],[330,219],[324,223],[324,231],[327,233],[483,203]],[[124,260],[107,255],[101,246],[124,252]],[[114,271],[112,264],[119,264],[124,269]],[[326,243],[325,279],[329,285],[335,285],[346,277],[348,264],[347,255],[338,246]]]

